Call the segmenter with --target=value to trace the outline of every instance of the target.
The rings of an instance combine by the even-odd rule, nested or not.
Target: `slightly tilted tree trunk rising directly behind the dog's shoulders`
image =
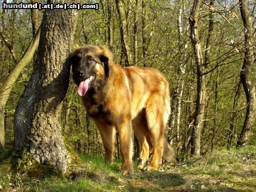
[[[123,0],[116,0],[117,3],[117,11],[119,14],[119,28],[120,28],[120,35],[121,35],[121,42],[122,42],[122,50],[123,55],[125,56],[125,66],[129,66],[132,63],[131,51],[129,46],[129,36],[127,30],[127,19],[125,15],[125,5]]]

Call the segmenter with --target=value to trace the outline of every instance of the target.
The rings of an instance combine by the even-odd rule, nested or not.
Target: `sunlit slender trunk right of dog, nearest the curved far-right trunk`
[[[195,121],[192,128],[192,143],[191,143],[191,154],[193,156],[200,156],[200,137],[201,128],[204,122],[204,108],[205,108],[205,89],[206,82],[205,76],[205,66],[203,65],[203,53],[201,49],[200,39],[199,39],[199,9],[201,5],[201,0],[195,0],[193,2],[193,8],[191,14],[189,15],[189,24],[191,28],[191,41],[193,45],[193,52],[195,55],[196,69],[197,69],[197,97],[196,97],[196,111],[195,111]]]

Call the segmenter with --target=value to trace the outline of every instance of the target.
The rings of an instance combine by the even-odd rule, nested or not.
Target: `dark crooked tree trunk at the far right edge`
[[[243,60],[242,70],[240,72],[240,78],[245,90],[246,95],[246,115],[243,122],[242,131],[237,141],[237,147],[242,147],[250,141],[251,130],[255,121],[255,86],[251,81],[251,75],[253,74],[254,64],[254,46],[253,46],[253,19],[249,13],[245,0],[240,0],[240,12],[243,20],[243,26],[245,28],[245,58]]]

